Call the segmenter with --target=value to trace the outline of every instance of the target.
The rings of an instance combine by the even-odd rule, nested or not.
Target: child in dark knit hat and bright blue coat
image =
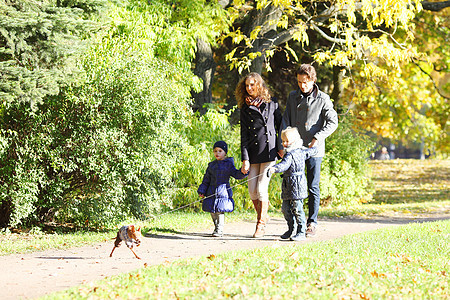
[[[214,161],[208,164],[198,194],[204,198],[202,209],[210,212],[214,222],[212,236],[221,237],[225,223],[225,212],[234,210],[233,192],[230,187],[230,176],[236,179],[245,178],[241,170],[234,166],[234,159],[227,157],[228,146],[224,141],[218,141],[213,146]]]

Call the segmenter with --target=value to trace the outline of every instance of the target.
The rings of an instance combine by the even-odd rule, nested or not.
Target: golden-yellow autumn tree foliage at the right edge
[[[425,149],[428,154],[449,152],[448,14],[448,9],[417,14],[414,44],[422,55],[401,62],[399,68],[385,68],[385,76],[370,80],[361,76],[361,65],[355,65],[351,84],[342,97],[357,116],[359,128],[418,147],[422,158],[427,154]],[[379,65],[383,66],[382,62]]]

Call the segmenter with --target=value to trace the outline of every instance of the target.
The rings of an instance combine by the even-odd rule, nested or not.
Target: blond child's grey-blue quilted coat
[[[305,160],[317,154],[317,148],[296,148],[286,150],[281,162],[273,166],[275,173],[283,173],[281,199],[303,200],[308,197],[305,176]]]

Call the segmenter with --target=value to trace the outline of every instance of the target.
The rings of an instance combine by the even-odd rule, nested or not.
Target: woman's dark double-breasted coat
[[[278,103],[272,100],[259,108],[241,107],[241,156],[251,164],[274,161],[282,149],[278,132],[282,115]]]

